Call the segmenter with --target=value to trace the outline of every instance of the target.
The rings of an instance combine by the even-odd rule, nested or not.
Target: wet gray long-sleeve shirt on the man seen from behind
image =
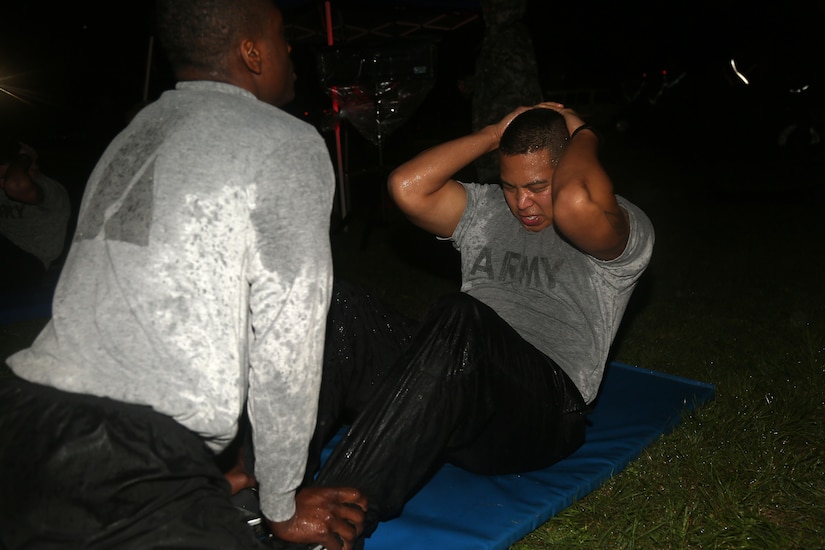
[[[11,368],[149,405],[215,451],[248,394],[261,507],[289,518],[315,425],[333,193],[310,125],[228,84],[179,84],[101,157],[53,319]]]

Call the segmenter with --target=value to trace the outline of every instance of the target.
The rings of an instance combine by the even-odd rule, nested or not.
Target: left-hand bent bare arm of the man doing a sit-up
[[[442,143],[396,168],[387,186],[398,207],[417,226],[439,237],[455,231],[467,196],[453,176],[480,156],[498,148],[499,140],[521,107],[497,124]]]

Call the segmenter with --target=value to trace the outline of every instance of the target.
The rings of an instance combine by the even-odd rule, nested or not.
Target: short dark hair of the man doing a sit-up
[[[508,156],[547,150],[550,162],[555,166],[569,140],[564,117],[553,109],[537,107],[524,111],[507,125],[498,149],[502,155]]]

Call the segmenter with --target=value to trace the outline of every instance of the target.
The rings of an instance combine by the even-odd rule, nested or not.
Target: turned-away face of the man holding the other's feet
[[[270,28],[261,42],[264,70],[267,79],[261,99],[270,105],[281,107],[295,98],[295,69],[289,57],[292,47],[284,36],[284,18],[280,10],[272,6]]]

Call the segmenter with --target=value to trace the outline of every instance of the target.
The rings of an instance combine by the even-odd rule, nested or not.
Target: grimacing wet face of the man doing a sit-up
[[[510,212],[527,231],[553,225],[553,166],[547,150],[499,155],[501,188]]]

